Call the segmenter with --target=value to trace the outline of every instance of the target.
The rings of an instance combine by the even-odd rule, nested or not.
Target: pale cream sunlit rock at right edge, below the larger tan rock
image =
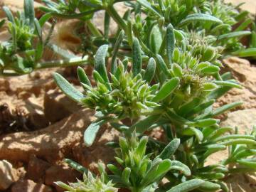
[[[228,118],[221,122],[222,127],[238,127],[238,132],[244,134],[250,133],[252,127],[256,124],[256,109],[239,110],[236,112],[230,112]]]

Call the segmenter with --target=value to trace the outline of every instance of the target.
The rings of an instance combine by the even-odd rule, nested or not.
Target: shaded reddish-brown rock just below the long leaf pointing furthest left
[[[68,117],[70,114],[82,109],[78,103],[70,100],[70,98],[59,90],[49,90],[46,92],[43,108],[46,119],[51,123],[58,122],[60,119]]]

